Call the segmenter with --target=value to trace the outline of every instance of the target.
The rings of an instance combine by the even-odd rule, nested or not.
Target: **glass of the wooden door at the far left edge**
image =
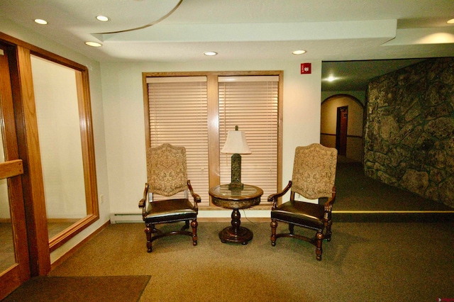
[[[0,131],[0,162],[5,161],[3,137]],[[9,209],[8,182],[0,179],[0,273],[16,263],[13,228]]]

